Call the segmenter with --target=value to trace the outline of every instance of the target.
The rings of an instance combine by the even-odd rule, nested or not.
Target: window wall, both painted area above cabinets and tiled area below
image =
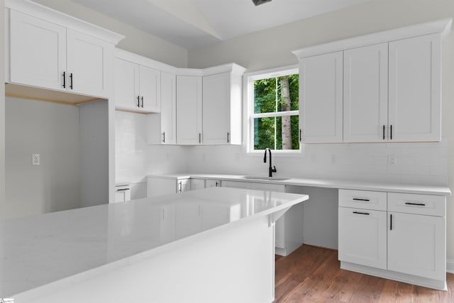
[[[357,35],[454,16],[452,0],[372,0],[303,21],[189,50],[189,67],[236,62],[248,72],[292,65],[292,50]],[[443,142],[307,145],[306,155],[275,158],[277,175],[360,177],[370,180],[448,184],[454,190],[454,31],[443,40]],[[397,165],[387,165],[395,153]],[[205,158],[204,158],[205,155]],[[334,155],[334,161],[331,160]],[[189,170],[265,174],[261,157],[237,147],[196,147]],[[447,255],[454,260],[454,199],[447,203]]]

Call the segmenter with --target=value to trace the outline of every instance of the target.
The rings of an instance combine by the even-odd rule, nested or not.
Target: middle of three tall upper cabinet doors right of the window
[[[387,140],[388,43],[343,53],[343,141]]]

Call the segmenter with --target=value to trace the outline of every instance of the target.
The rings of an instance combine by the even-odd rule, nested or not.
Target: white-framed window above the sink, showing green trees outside
[[[248,75],[248,151],[299,152],[299,72],[287,68]]]

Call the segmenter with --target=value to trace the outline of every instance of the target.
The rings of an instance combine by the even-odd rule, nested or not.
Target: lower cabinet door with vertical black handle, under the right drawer
[[[445,280],[445,218],[388,212],[388,270]]]

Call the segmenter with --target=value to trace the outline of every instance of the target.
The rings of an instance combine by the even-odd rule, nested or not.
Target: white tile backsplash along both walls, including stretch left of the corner
[[[241,146],[148,145],[146,126],[146,115],[116,111],[117,181],[144,183],[146,175],[175,172],[267,175],[261,153],[248,155]],[[446,185],[448,142],[313,144],[302,154],[273,153],[272,160],[282,177]]]

